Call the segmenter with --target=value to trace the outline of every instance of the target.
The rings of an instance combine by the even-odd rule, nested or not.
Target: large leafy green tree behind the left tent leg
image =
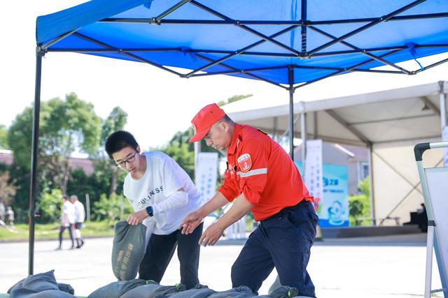
[[[29,188],[32,112],[31,107],[25,108],[8,132],[8,144],[14,151],[11,175],[17,174],[14,177],[20,179],[21,192],[25,193]],[[38,151],[38,186],[41,191],[60,188],[62,193],[66,193],[69,157],[76,150],[90,155],[97,152],[100,124],[101,119],[94,113],[93,105],[80,100],[74,93],[67,94],[64,100],[53,98],[41,103]],[[25,193],[21,193],[20,200],[26,202],[28,195]]]

